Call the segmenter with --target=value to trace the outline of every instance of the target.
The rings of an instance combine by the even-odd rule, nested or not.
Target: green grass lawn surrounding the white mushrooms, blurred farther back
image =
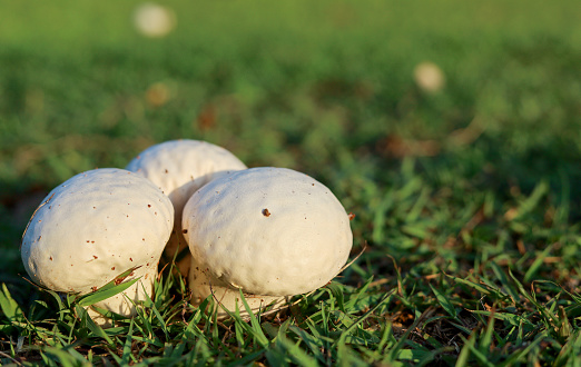
[[[0,3],[1,364],[578,363],[575,2],[168,1],[164,39],[134,30],[136,1],[57,3]],[[440,92],[414,83],[426,60]],[[52,187],[177,138],[316,177],[365,251],[250,320],[211,320],[168,269],[105,330],[90,299],[24,280],[20,236]]]

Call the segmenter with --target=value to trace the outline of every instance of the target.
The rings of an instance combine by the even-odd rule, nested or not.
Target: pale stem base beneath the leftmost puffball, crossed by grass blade
[[[136,304],[147,300],[147,295],[149,298],[154,297],[154,279],[157,277],[157,264],[137,268],[132,275],[125,278],[124,281],[129,281],[139,277],[139,280],[122,292],[96,302],[93,306],[125,317],[134,317],[137,315]],[[104,328],[114,326],[110,318],[99,314],[91,306],[87,306],[86,309],[95,324]]]

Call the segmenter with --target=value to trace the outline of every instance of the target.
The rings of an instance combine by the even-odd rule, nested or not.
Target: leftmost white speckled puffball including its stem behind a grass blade
[[[149,180],[127,170],[79,173],[55,188],[37,208],[22,236],[24,268],[36,284],[88,294],[138,267],[140,279],[95,306],[135,315],[132,301],[152,296],[152,281],[174,226],[174,207]],[[91,308],[97,324],[109,320]]]

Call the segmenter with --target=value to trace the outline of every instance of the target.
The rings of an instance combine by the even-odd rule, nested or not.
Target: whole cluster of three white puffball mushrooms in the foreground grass
[[[326,285],[353,244],[349,215],[323,184],[286,168],[247,168],[226,149],[198,140],[149,147],[126,169],[79,173],[55,188],[22,236],[32,281],[89,294],[138,279],[88,307],[125,317],[152,296],[158,265],[175,261],[191,304],[210,297],[245,314],[284,307],[289,297]],[[120,274],[130,271],[125,278]]]

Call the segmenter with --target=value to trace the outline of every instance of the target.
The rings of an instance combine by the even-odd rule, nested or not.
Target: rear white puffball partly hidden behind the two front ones
[[[175,208],[175,226],[163,255],[163,262],[170,262],[176,252],[180,272],[186,276],[190,255],[181,234],[181,211],[191,194],[210,180],[246,166],[228,150],[199,140],[170,140],[151,146],[127,165],[134,171],[158,186]]]

